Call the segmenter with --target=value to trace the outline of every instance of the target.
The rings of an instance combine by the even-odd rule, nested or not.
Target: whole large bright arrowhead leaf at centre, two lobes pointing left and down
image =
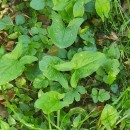
[[[71,86],[76,87],[79,79],[87,77],[95,72],[105,62],[105,55],[100,52],[83,51],[76,53],[70,62],[55,65],[59,71],[74,69],[71,77]]]

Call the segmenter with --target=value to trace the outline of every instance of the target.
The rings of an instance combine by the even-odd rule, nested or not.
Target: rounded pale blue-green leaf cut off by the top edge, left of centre
[[[30,6],[35,10],[42,10],[45,7],[45,0],[32,0]]]

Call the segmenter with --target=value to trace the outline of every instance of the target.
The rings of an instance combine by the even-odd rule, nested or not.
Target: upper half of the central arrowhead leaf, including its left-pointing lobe
[[[77,70],[87,64],[91,64],[96,62],[100,59],[104,59],[105,55],[100,52],[93,52],[93,51],[82,51],[76,53],[70,62],[65,62],[62,64],[55,65],[55,68],[59,71],[68,71],[71,69]],[[100,62],[100,61],[99,61]]]

